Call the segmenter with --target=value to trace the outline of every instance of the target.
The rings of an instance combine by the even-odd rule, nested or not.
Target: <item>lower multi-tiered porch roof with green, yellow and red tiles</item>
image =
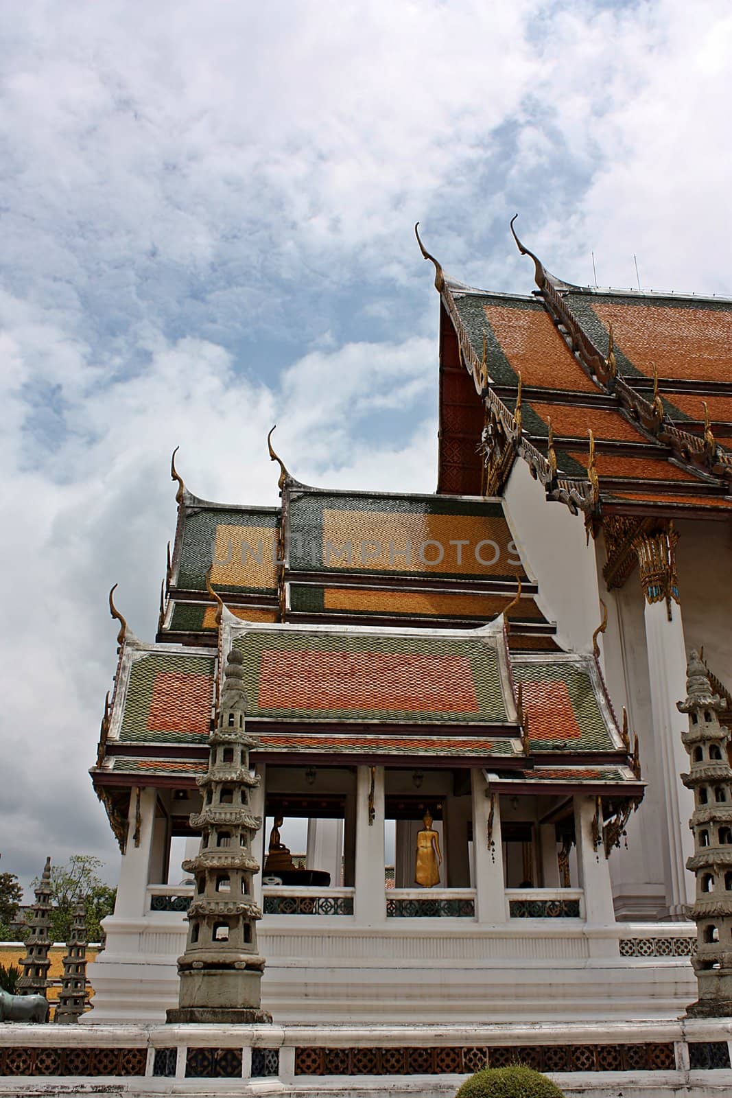
[[[123,636],[92,770],[117,832],[132,785],[204,772],[232,648],[255,763],[483,765],[511,788],[642,795],[598,664],[560,650],[500,500],[281,488],[277,509],[179,492],[158,638]]]

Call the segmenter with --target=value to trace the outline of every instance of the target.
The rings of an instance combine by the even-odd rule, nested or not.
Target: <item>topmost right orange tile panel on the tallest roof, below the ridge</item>
[[[732,311],[679,305],[593,301],[593,310],[612,322],[617,347],[642,373],[719,381],[729,378]]]

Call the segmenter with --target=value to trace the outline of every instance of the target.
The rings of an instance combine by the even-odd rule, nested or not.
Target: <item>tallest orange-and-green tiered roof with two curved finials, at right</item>
[[[441,298],[438,491],[498,493],[520,455],[593,520],[729,515],[732,302],[573,285],[517,244],[531,295],[465,287],[424,253]]]

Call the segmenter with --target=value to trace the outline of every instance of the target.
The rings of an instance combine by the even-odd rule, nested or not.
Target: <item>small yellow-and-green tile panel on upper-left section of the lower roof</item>
[[[273,512],[203,508],[185,514],[176,586],[205,591],[277,593],[277,522]]]

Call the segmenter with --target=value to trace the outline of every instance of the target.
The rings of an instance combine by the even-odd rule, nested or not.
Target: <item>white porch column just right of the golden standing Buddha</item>
[[[504,885],[504,848],[500,837],[500,798],[491,797],[483,771],[471,770],[473,793],[473,882],[475,885],[475,918],[494,926],[506,922],[506,889]],[[493,814],[493,815],[492,815]],[[491,847],[488,845],[491,827]]]

